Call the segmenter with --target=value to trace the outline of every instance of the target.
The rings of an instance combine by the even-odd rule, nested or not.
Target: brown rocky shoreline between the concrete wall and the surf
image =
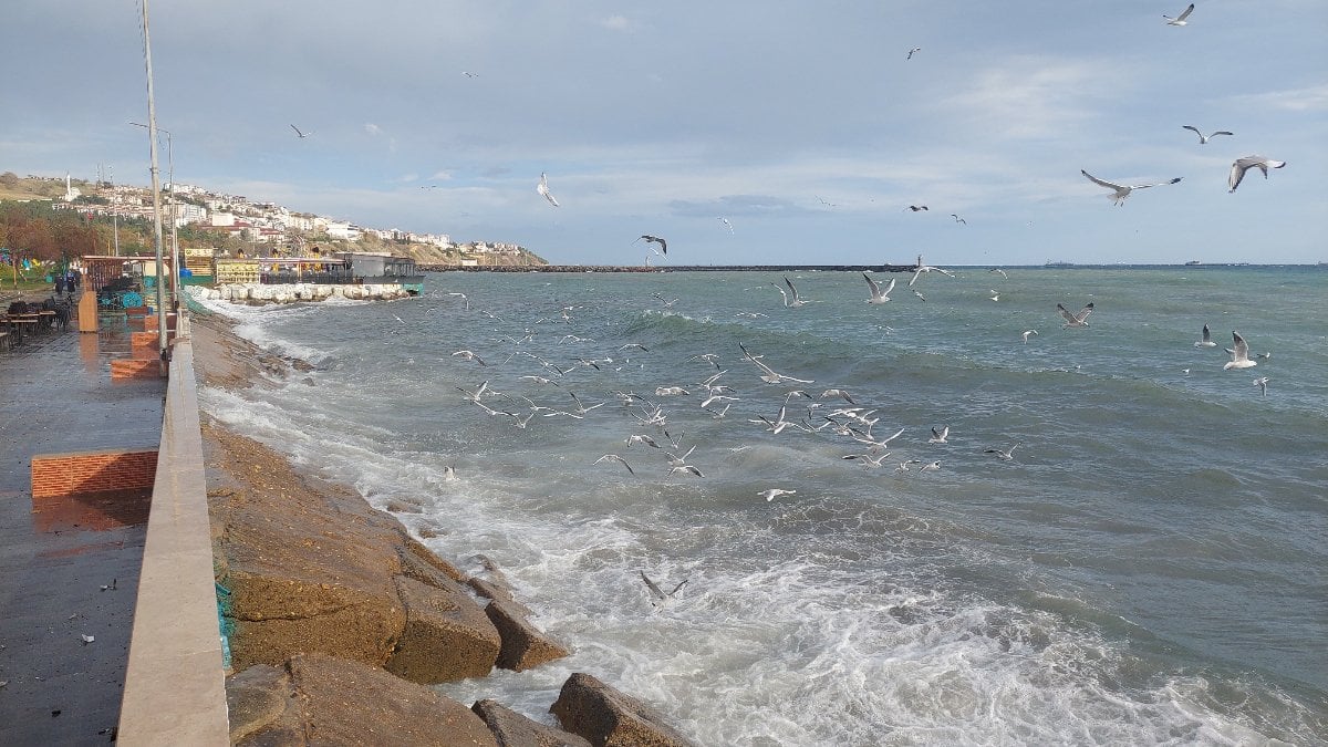
[[[262,385],[303,368],[219,318],[195,315],[193,330],[206,385]],[[429,685],[519,673],[568,647],[530,621],[489,558],[440,557],[351,488],[202,420],[232,743],[691,744],[584,673],[550,706],[559,726],[438,694]]]

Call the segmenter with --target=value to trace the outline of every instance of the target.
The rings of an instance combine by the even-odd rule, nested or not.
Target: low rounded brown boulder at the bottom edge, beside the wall
[[[226,685],[231,743],[498,747],[485,720],[422,685],[363,663],[304,654]]]

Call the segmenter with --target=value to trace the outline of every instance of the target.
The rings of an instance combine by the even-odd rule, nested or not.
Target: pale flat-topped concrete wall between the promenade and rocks
[[[228,744],[194,350],[173,346],[120,744]]]

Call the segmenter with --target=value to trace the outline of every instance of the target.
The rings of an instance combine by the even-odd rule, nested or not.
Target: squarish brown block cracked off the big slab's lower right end
[[[502,638],[465,587],[436,587],[398,576],[406,623],[388,659],[388,671],[412,682],[453,682],[489,674]]]

